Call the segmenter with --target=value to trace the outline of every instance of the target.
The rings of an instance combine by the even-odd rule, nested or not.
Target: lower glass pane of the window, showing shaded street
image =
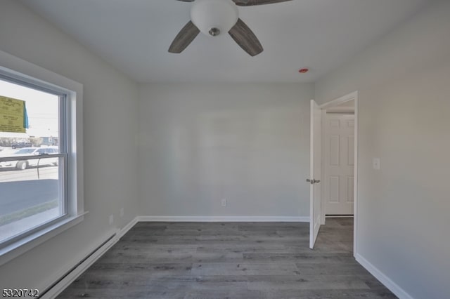
[[[26,162],[25,170],[0,169],[0,242],[64,215],[63,158]]]

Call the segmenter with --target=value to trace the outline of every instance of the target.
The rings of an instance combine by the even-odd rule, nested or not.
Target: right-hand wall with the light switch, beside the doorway
[[[449,297],[449,32],[439,1],[316,82],[359,91],[358,253],[413,298]]]

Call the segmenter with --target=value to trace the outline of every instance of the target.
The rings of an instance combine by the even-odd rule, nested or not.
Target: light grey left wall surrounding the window
[[[84,84],[84,222],[0,266],[0,289],[39,288],[137,214],[137,85],[13,0],[0,0],[0,50]],[[127,157],[123,155],[127,154]],[[124,207],[124,218],[119,217]]]

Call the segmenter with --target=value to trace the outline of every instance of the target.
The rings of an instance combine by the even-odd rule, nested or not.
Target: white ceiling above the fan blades
[[[423,9],[430,0],[293,0],[239,7],[264,52],[228,34],[199,34],[168,53],[191,4],[176,0],[21,0],[139,82],[312,82]],[[299,74],[309,67],[308,74]]]

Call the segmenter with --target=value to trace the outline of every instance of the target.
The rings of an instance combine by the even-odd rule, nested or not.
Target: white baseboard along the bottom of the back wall
[[[142,222],[309,222],[309,217],[280,216],[138,216]]]

